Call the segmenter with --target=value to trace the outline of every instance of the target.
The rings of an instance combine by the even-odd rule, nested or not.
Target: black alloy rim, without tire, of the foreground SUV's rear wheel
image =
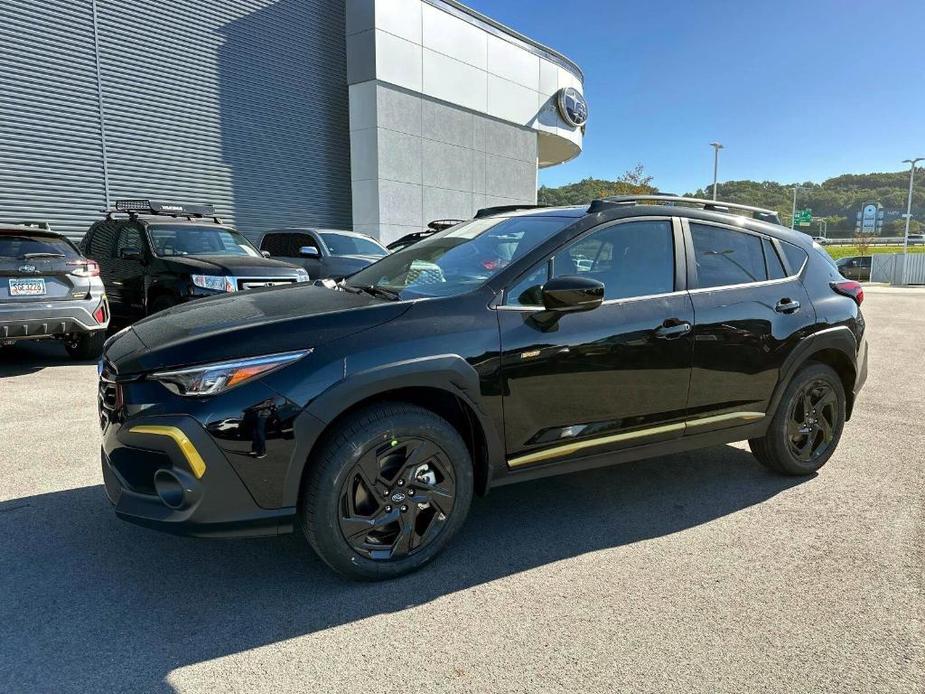
[[[838,398],[826,381],[816,379],[797,394],[787,420],[790,452],[797,460],[812,462],[832,445],[838,423]]]

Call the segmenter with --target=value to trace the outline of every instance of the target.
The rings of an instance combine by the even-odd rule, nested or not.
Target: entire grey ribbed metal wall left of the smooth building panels
[[[81,234],[105,203],[93,3],[9,4],[0,220],[47,219]],[[212,202],[243,230],[350,227],[342,0],[97,0],[96,9],[111,200]]]

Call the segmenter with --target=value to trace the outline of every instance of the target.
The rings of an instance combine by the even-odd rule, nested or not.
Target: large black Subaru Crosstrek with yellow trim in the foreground
[[[739,440],[811,474],[866,378],[863,293],[770,215],[482,210],[337,284],[142,320],[100,362],[109,498],[177,533],[300,526],[381,579],[498,485]]]

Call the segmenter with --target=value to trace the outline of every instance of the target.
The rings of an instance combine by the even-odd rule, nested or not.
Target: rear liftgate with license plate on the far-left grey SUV
[[[0,302],[29,304],[82,299],[90,280],[78,271],[80,253],[64,238],[0,230]]]

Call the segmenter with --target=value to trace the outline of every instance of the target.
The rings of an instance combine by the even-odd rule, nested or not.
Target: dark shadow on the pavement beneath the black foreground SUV
[[[353,583],[301,534],[174,537],[101,486],[0,504],[0,690],[173,691],[176,668],[398,612],[569,557],[683,532],[805,481],[721,446],[493,490],[405,578]]]

